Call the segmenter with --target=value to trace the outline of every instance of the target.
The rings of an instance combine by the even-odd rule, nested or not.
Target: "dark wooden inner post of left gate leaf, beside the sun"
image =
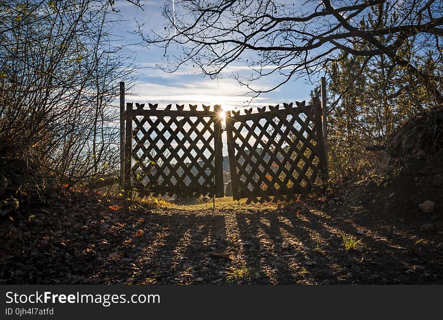
[[[223,144],[221,144],[221,106],[214,106],[214,175],[215,175],[215,197],[223,198],[225,196],[223,184]]]

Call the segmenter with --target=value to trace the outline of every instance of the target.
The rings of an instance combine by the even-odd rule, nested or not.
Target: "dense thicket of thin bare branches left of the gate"
[[[108,1],[0,1],[2,155],[79,181],[118,166],[118,83],[132,53],[114,44]]]

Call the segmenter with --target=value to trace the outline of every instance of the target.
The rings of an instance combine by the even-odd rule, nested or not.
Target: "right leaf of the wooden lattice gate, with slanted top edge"
[[[313,188],[324,171],[314,109],[298,103],[227,113],[234,198],[276,202]]]

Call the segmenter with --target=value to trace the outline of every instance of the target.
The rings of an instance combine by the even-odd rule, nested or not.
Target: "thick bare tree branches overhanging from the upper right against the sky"
[[[190,63],[217,77],[230,65],[247,64],[253,74],[235,77],[258,95],[324,71],[345,52],[363,57],[363,67],[384,57],[391,68],[407,68],[443,103],[441,77],[425,72],[412,54],[431,51],[435,61],[442,60],[440,0],[177,0],[174,11],[171,5],[164,7],[163,30],[139,27],[146,45],[165,48],[169,72]],[[271,88],[251,85],[272,75],[280,80]]]

